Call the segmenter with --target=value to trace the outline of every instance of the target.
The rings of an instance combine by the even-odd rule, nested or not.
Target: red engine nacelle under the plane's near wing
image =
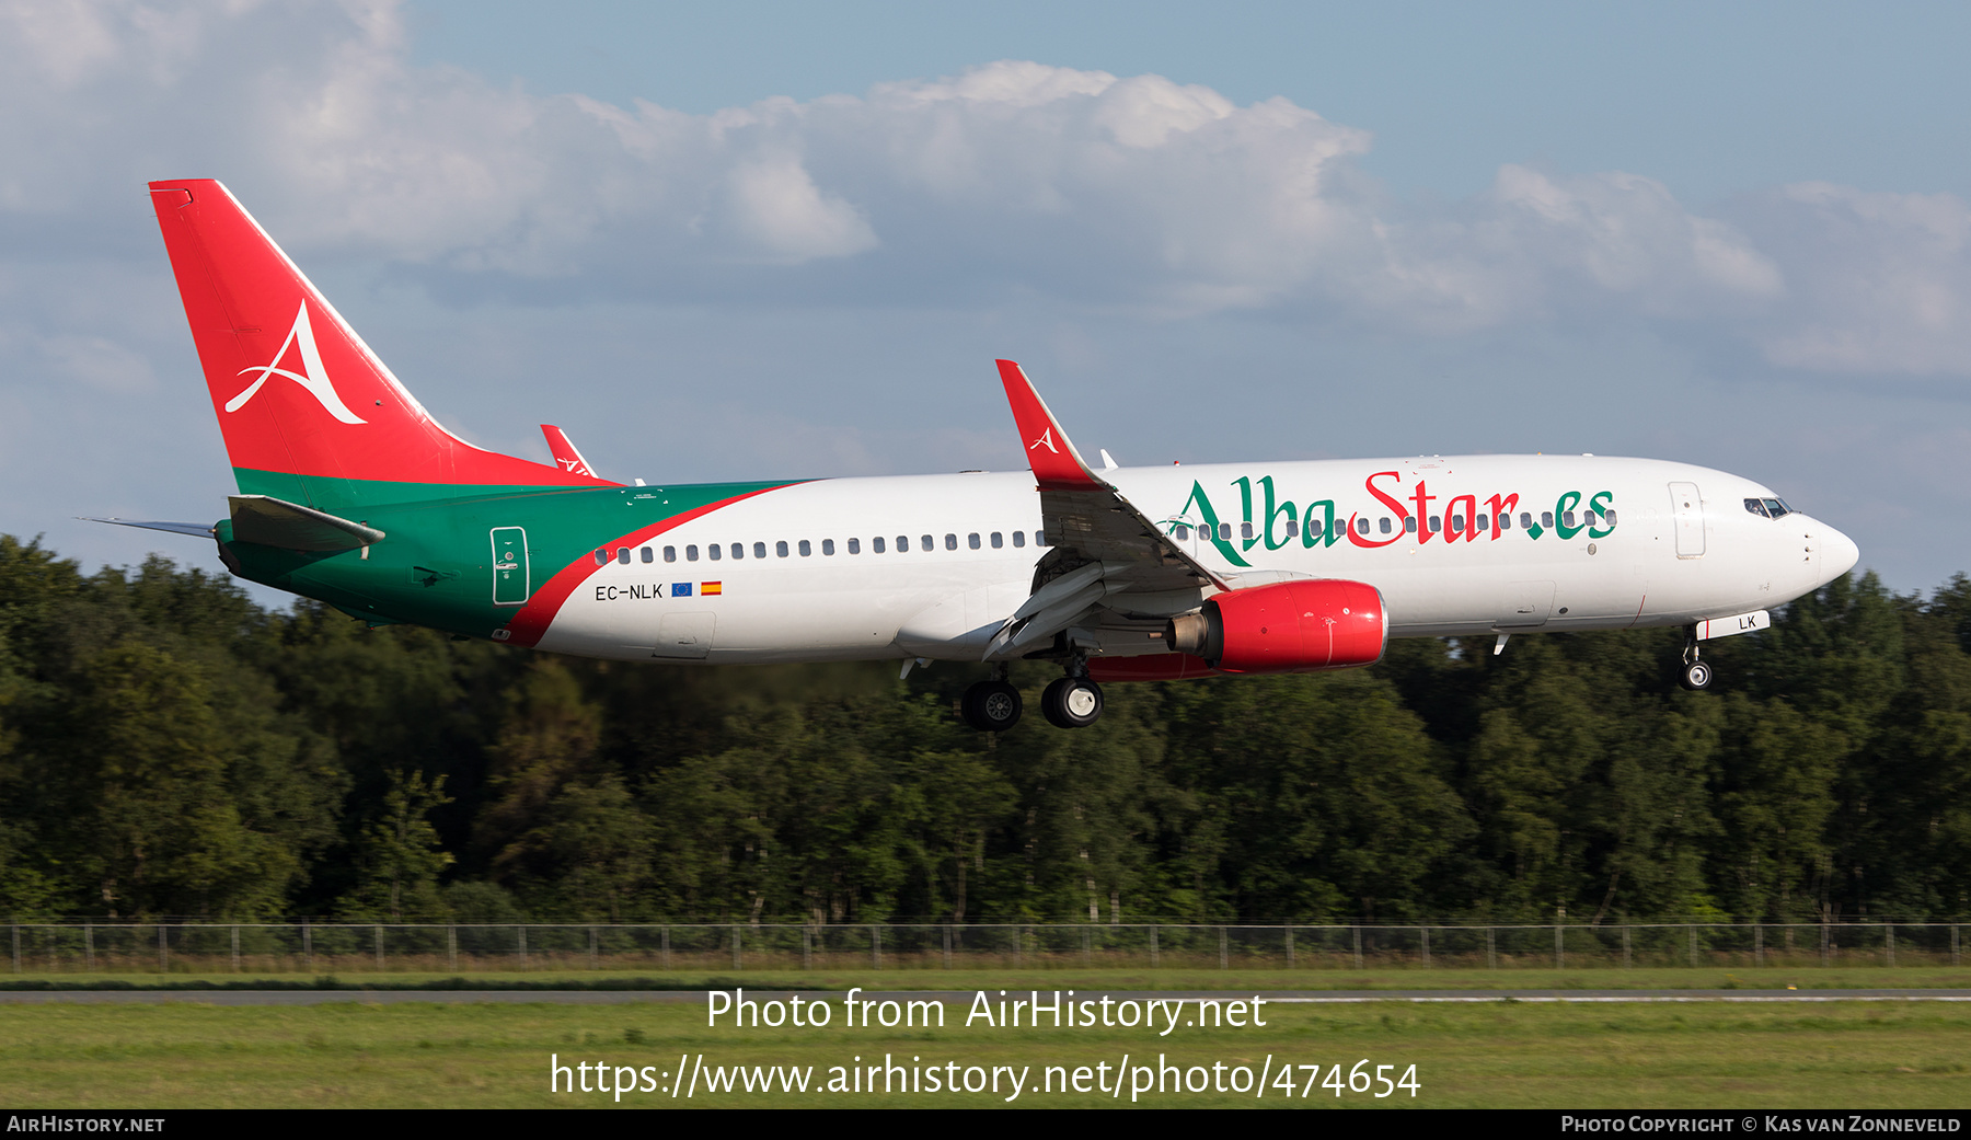
[[[1390,613],[1366,582],[1309,578],[1218,594],[1165,637],[1222,673],[1350,669],[1382,659]]]

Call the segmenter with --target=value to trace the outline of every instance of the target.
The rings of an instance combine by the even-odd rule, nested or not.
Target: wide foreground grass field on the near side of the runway
[[[1823,1006],[1727,1004],[1486,1004],[1486,1006],[1267,1006],[1265,1028],[1135,1030],[966,1028],[964,1006],[942,1030],[706,1028],[704,1006],[548,1004],[329,1004],[306,1008],[0,1006],[0,1095],[10,1106],[615,1106],[609,1095],[548,1091],[550,1053],[564,1063],[668,1073],[680,1053],[706,1065],[830,1065],[956,1061],[1027,1067],[1011,1106],[1127,1104],[1108,1095],[1060,1093],[1076,1065],[1123,1053],[1131,1069],[1224,1063],[1257,1073],[1287,1065],[1356,1061],[1417,1067],[1419,1095],[1378,1101],[1317,1087],[1293,1069],[1295,1095],[1271,1083],[1252,1093],[1145,1095],[1141,1104],[1246,1106],[1729,1106],[1916,1108],[1971,1103],[1971,1018],[1951,1004],[1843,1002]],[[1035,1091],[1060,1065],[1056,1091]],[[1370,1065],[1370,1067],[1372,1067]],[[1226,1079],[1236,1073],[1226,1069]],[[658,1079],[664,1083],[664,1079]],[[1250,1081],[1250,1077],[1248,1077]],[[1092,1085],[1090,1085],[1092,1087]],[[623,1106],[1005,1106],[1001,1095],[633,1093]]]

